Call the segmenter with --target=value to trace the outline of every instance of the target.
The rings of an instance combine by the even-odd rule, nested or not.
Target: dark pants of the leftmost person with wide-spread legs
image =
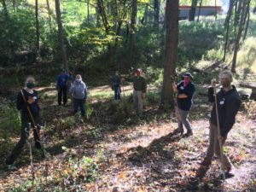
[[[36,124],[39,124],[39,116],[34,117],[34,120],[36,121]],[[6,164],[11,165],[15,162],[16,158],[21,153],[21,150],[23,146],[26,144],[26,140],[29,137],[29,123],[31,123],[31,128],[33,129],[33,135],[35,140],[36,148],[41,148],[40,144],[40,137],[38,135],[40,131],[40,127],[38,125],[33,126],[32,120],[27,117],[26,115],[21,115],[21,131],[20,131],[20,141],[15,145],[15,148],[13,149],[12,153],[9,155],[9,157],[6,160]]]

